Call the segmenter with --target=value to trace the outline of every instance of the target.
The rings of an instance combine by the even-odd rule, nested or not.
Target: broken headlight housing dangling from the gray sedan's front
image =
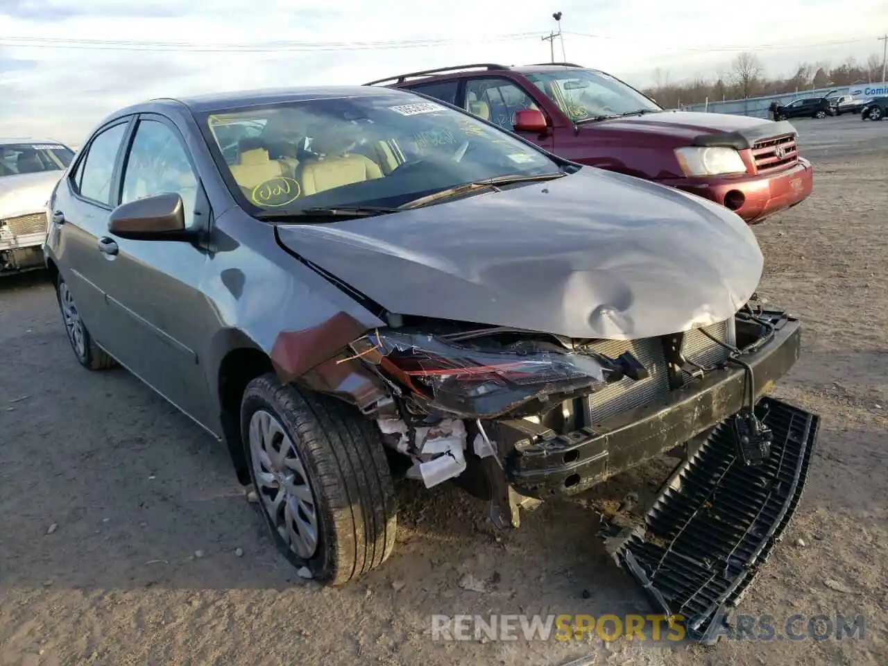
[[[551,395],[646,376],[634,358],[607,359],[523,340],[491,348],[425,333],[377,330],[352,345],[362,360],[440,411],[492,417]]]

